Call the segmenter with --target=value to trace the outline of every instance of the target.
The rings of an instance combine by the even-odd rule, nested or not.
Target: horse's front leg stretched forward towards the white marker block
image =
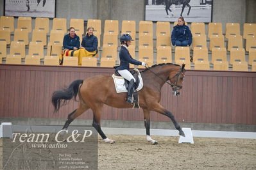
[[[183,137],[185,137],[185,134],[184,134],[182,128],[180,127],[178,122],[175,120],[175,116],[173,116],[173,114],[170,111],[167,111],[167,109],[165,109],[164,107],[162,107],[162,105],[160,105],[158,103],[153,105],[153,111],[164,114],[168,118],[170,118],[171,121],[173,121],[173,124],[175,125],[175,128],[179,131],[179,135],[182,135]]]

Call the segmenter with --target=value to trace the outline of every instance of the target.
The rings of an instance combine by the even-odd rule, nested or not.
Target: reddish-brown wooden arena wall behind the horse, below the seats
[[[112,68],[0,65],[0,120],[12,118],[67,118],[78,106],[73,100],[53,113],[51,94],[76,79],[105,74]],[[256,72],[187,70],[180,97],[162,88],[161,104],[179,122],[256,125]],[[87,111],[80,119],[92,119]],[[142,121],[141,109],[104,107],[103,120]],[[169,118],[151,112],[151,121]]]

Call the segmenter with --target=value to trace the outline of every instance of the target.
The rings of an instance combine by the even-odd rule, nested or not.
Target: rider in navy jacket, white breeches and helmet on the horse
[[[124,77],[124,79],[128,80],[129,86],[128,86],[128,96],[126,98],[126,102],[133,103],[132,95],[133,91],[135,90],[135,78],[133,77],[132,73],[129,72],[129,63],[133,65],[142,65],[146,66],[146,63],[137,61],[132,58],[132,56],[129,53],[128,47],[131,44],[132,36],[128,34],[121,35],[120,42],[121,42],[121,50],[119,52],[119,58],[120,58],[120,65],[114,67],[117,72]]]

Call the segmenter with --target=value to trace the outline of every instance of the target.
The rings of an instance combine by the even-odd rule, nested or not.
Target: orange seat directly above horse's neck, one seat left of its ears
[[[157,63],[171,63],[171,47],[159,46],[157,48]]]

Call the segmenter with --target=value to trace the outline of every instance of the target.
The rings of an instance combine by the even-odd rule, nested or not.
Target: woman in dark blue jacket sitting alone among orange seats
[[[183,17],[179,17],[178,24],[173,27],[171,42],[174,46],[190,46],[192,43],[191,31],[188,26],[185,26]]]

